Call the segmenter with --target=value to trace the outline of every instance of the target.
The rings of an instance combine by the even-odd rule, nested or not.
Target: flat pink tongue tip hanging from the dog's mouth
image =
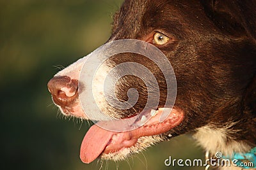
[[[114,132],[106,131],[97,125],[93,125],[84,136],[80,149],[80,159],[86,164],[97,159],[113,134]]]

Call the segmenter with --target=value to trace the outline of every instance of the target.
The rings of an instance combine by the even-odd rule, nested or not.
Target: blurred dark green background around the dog
[[[203,158],[188,136],[120,161],[83,164],[86,123],[61,117],[47,81],[104,43],[120,0],[0,1],[1,169],[204,169],[164,160]]]

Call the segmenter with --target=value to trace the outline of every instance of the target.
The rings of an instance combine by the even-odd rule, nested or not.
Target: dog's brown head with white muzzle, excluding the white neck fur
[[[240,1],[125,1],[114,17],[106,45],[111,46],[116,40],[138,39],[132,43],[132,49],[157,48],[167,59],[162,62],[163,67],[167,69],[168,63],[172,64],[166,71],[171,76],[166,77],[154,59],[139,52],[124,51],[102,59],[102,55],[95,55],[100,53],[97,50],[56,74],[48,87],[63,114],[103,122],[115,120],[115,124],[138,116],[132,125],[144,123],[123,132],[93,125],[81,146],[83,162],[92,162],[99,155],[103,159],[124,159],[150,145],[205,126],[228,127],[227,140],[246,139],[246,144],[255,144],[255,128],[246,123],[255,121],[253,7],[256,3],[248,5]],[[120,48],[121,42],[113,46]],[[136,49],[138,42],[141,45]],[[158,55],[154,57],[161,59]],[[100,66],[96,64],[94,72],[92,67],[99,61]],[[143,76],[143,69],[151,74]],[[92,79],[86,80],[86,76]],[[150,88],[155,85],[157,88]],[[170,88],[175,91],[168,98]],[[93,95],[88,94],[90,90]],[[147,105],[148,96],[157,104]],[[166,105],[168,101],[175,104]],[[96,104],[102,114],[90,109],[90,103]],[[120,105],[124,108],[118,108]],[[164,111],[168,115],[161,121]],[[241,121],[243,126],[237,123]],[[234,131],[243,132],[234,136]],[[253,138],[244,137],[252,131]]]

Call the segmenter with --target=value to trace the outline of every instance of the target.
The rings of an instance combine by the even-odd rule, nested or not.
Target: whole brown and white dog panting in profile
[[[152,118],[138,129],[113,132],[93,125],[84,137],[81,160],[122,160],[188,132],[209,155],[221,152],[230,155],[230,159],[236,153],[255,155],[250,152],[256,146],[255,9],[253,0],[125,0],[113,17],[107,43],[138,39],[161,50],[175,73],[175,104],[170,106],[166,120],[159,122],[164,108],[169,107],[164,105],[168,88],[161,69],[138,53],[109,57],[102,64],[101,74],[108,74],[111,68],[124,62],[147,67],[159,84],[159,103]],[[64,115],[100,121],[79,100],[79,90],[83,92],[87,87],[79,80],[84,62],[86,57],[57,73],[49,81],[48,89]],[[140,78],[130,74],[118,79],[115,96],[119,101],[127,101],[131,88],[137,89],[139,96],[132,108],[120,110],[98,97],[100,110],[114,120],[140,114],[148,97]]]

